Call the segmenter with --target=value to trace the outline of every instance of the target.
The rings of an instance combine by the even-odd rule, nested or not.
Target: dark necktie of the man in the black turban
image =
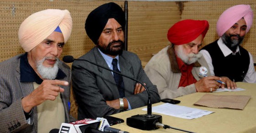
[[[113,70],[114,70],[114,71],[120,72],[120,71],[118,70],[118,68],[117,68],[117,59],[113,59],[113,60],[112,60],[112,65],[113,65]],[[121,72],[120,72],[120,73],[121,73]],[[122,77],[122,75],[113,72],[113,76],[114,76],[115,82],[116,82],[116,84],[117,84],[119,96],[120,96],[121,98],[125,97],[125,94],[124,94],[124,84],[123,84],[123,77]]]

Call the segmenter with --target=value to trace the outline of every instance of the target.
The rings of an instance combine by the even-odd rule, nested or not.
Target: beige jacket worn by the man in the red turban
[[[203,56],[195,63],[192,69],[192,74],[197,81],[202,78],[199,76],[199,68],[201,66],[206,67],[209,71]],[[196,92],[195,84],[178,88],[181,72],[179,71],[174,50],[171,46],[166,46],[153,56],[145,66],[144,71],[151,82],[156,85],[161,99],[175,98]],[[210,72],[207,75],[210,76]]]

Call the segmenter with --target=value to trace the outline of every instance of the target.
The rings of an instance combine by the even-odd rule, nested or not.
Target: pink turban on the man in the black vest
[[[241,18],[246,22],[246,33],[250,30],[253,20],[253,12],[250,5],[235,5],[225,10],[217,21],[217,33],[222,36]]]

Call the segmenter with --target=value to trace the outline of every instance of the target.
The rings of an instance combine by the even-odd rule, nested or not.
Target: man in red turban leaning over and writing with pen
[[[211,76],[207,62],[198,53],[208,28],[206,20],[181,20],[169,29],[167,38],[171,45],[153,56],[144,68],[157,86],[161,99],[213,92],[220,86],[224,87],[216,80],[230,84],[226,77]],[[202,77],[199,73],[209,77]]]

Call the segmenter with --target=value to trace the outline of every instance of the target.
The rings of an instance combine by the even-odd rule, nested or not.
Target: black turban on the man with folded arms
[[[114,18],[123,27],[125,26],[125,15],[123,9],[116,3],[110,2],[97,7],[91,11],[85,20],[86,34],[94,44],[97,44],[99,37],[107,24],[108,19]]]

